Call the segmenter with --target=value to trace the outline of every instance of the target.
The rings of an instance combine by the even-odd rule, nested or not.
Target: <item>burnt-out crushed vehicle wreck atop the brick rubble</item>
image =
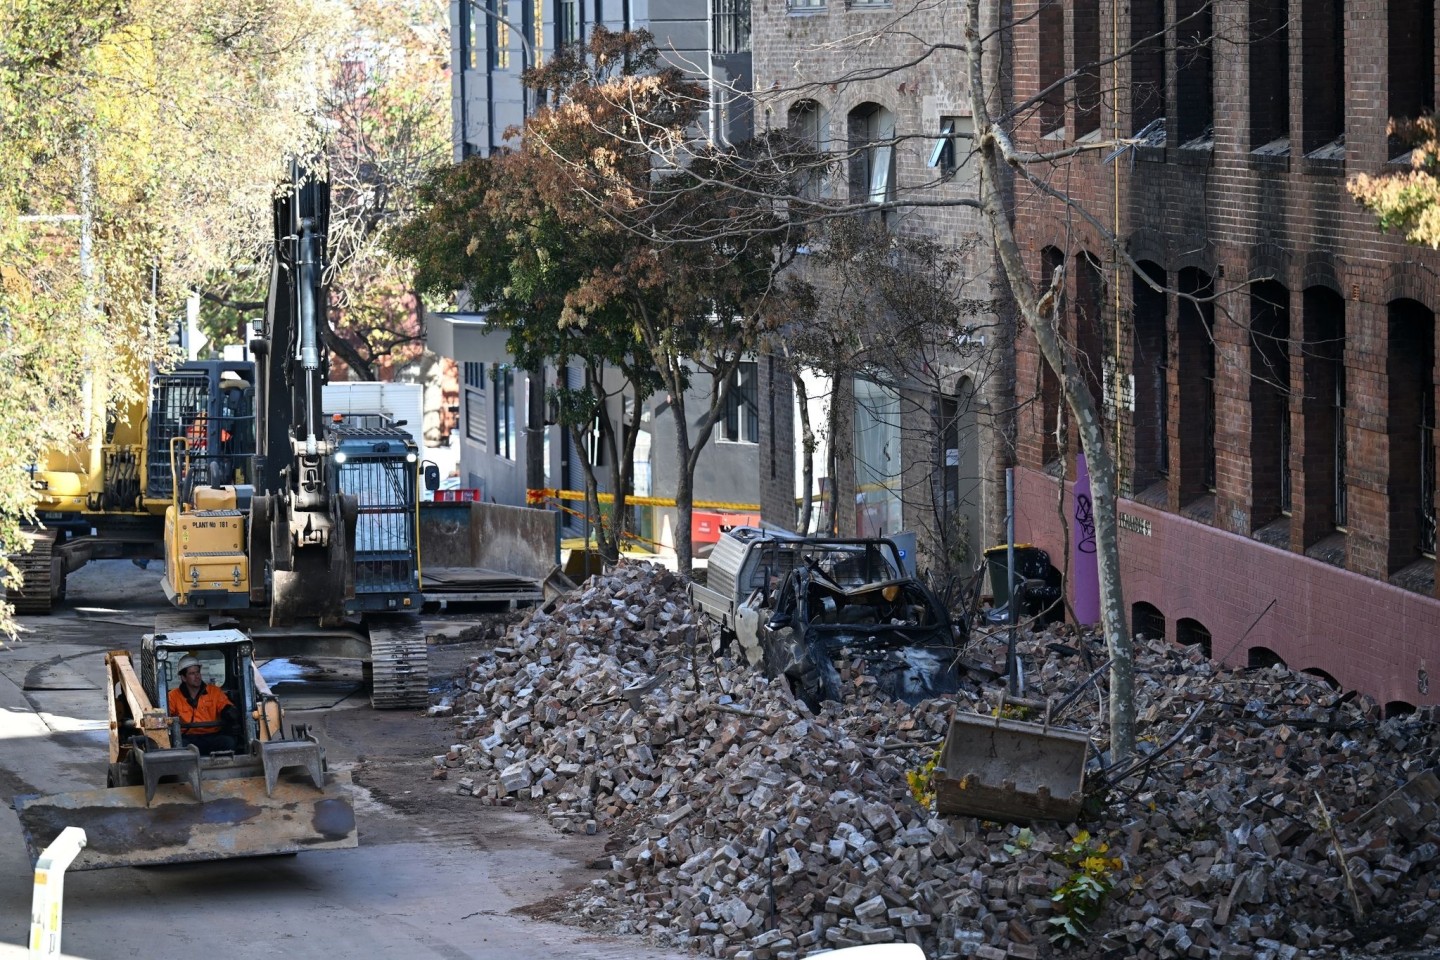
[[[891,540],[814,538],[737,527],[720,537],[691,600],[752,666],[811,707],[840,699],[838,658],[864,661],[881,694],[953,692],[963,628],[906,573]]]

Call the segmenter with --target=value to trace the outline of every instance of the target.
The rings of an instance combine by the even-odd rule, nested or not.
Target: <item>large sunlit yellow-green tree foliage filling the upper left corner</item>
[[[23,548],[27,466],[140,399],[187,291],[268,236],[340,27],[327,0],[0,9],[6,554]],[[86,384],[105,387],[89,419]]]

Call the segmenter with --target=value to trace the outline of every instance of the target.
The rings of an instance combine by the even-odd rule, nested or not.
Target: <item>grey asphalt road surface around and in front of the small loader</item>
[[[102,655],[138,651],[164,609],[157,583],[156,570],[125,561],[91,564],[72,576],[56,616],[23,617],[29,632],[0,648],[0,946],[27,943],[33,894],[10,797],[104,784]],[[455,651],[438,653],[432,676],[461,662]],[[65,953],[91,960],[687,956],[534,920],[593,877],[585,864],[602,838],[562,836],[537,818],[481,806],[431,780],[428,757],[452,740],[449,723],[372,711],[363,692],[344,697],[354,666],[340,665],[327,678],[338,687],[323,687],[343,699],[291,720],[308,721],[330,763],[351,771],[359,849],[71,874]]]

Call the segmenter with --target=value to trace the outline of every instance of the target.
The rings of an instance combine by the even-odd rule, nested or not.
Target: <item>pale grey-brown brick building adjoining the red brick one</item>
[[[755,127],[788,130],[832,158],[804,184],[806,200],[848,207],[893,236],[972,245],[956,284],[965,296],[994,302],[992,253],[978,243],[981,219],[956,204],[976,196],[963,56],[919,56],[926,46],[920,37],[959,39],[959,13],[950,3],[907,10],[896,30],[891,3],[753,4]],[[913,59],[919,62],[897,66]],[[867,213],[868,206],[876,212]],[[835,278],[818,259],[801,258],[795,269],[834,295]],[[863,295],[864,278],[844,281]],[[909,322],[890,320],[894,330]],[[829,462],[816,465],[834,510],[822,524],[832,522],[840,535],[914,531],[922,566],[930,569],[943,566],[940,551],[963,567],[995,543],[1009,459],[996,438],[1011,407],[1012,354],[1004,315],[982,311],[973,327],[968,348],[932,344],[924,363],[884,370],[871,363],[867,370],[871,356],[845,373],[816,373],[812,399],[818,393],[819,406],[835,410],[832,436],[824,438]],[[773,357],[762,358],[757,371],[762,510],[765,520],[792,527],[799,474],[793,387]]]

